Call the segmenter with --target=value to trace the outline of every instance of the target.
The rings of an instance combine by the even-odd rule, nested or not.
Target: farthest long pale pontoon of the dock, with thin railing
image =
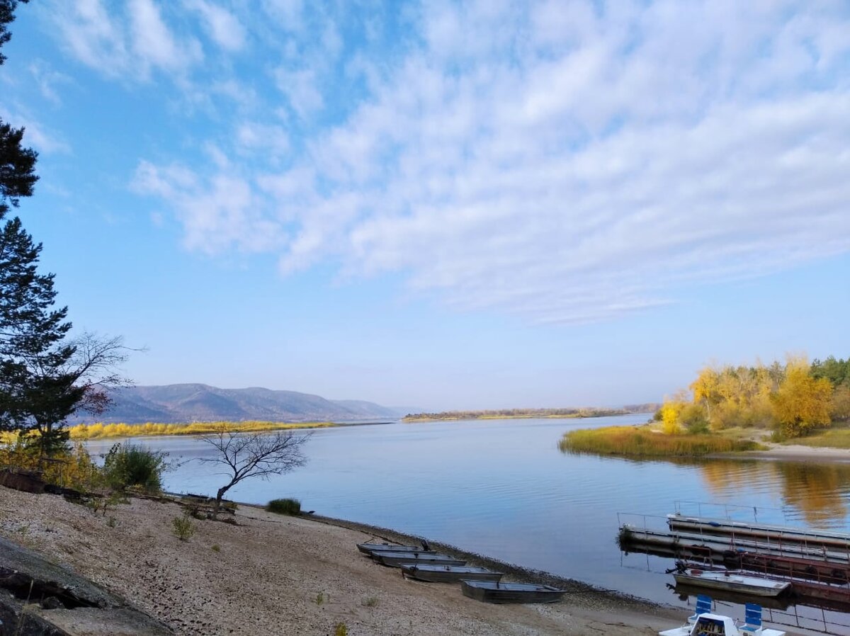
[[[668,514],[667,525],[671,530],[704,532],[713,535],[734,535],[779,545],[796,543],[810,548],[850,550],[850,534],[847,532],[795,528],[790,525],[746,523],[708,517],[689,517],[683,514]]]

